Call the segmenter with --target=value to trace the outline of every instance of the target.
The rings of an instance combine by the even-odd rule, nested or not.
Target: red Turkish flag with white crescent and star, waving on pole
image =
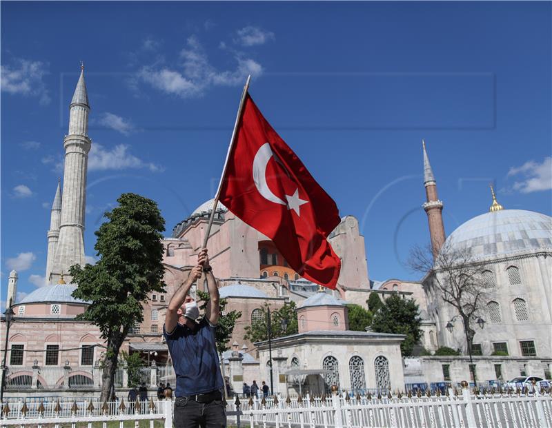
[[[268,236],[290,267],[335,289],[341,261],[328,243],[339,211],[246,94],[219,201]]]

